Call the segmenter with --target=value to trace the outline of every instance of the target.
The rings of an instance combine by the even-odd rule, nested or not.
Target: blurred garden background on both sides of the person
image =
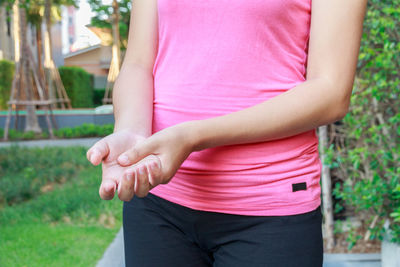
[[[0,266],[123,265],[85,153],[113,131],[131,6],[0,0]],[[370,0],[350,110],[318,128],[325,266],[400,266],[399,70],[400,0]]]

